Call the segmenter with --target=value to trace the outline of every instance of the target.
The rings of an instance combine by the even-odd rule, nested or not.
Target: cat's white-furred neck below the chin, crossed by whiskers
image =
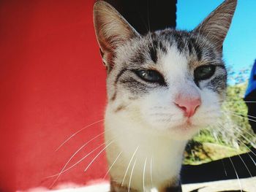
[[[165,134],[148,130],[150,129],[145,127],[145,124],[136,120],[125,120],[119,115],[106,113],[105,140],[107,143],[113,141],[113,145],[111,144],[107,149],[109,164],[115,161],[118,153],[121,153],[120,159],[116,161],[112,170],[112,175],[120,175],[119,183],[123,180],[129,161],[132,162],[130,165],[132,166],[135,160],[136,166],[132,177],[136,178],[138,188],[141,187],[145,164],[146,177],[149,178],[152,174],[154,185],[162,185],[164,180],[175,180],[179,177],[182,154],[187,141],[171,139]],[[149,172],[150,166],[151,172]],[[118,176],[115,177],[118,178]],[[148,185],[150,182],[148,179]]]

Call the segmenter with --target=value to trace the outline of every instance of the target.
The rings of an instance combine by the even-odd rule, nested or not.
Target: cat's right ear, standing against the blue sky
[[[225,0],[194,29],[195,32],[208,37],[220,52],[222,52],[222,45],[230,28],[236,4],[237,0]]]

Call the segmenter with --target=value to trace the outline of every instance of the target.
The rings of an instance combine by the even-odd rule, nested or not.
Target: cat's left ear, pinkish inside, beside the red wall
[[[113,66],[116,47],[132,37],[140,36],[110,4],[97,1],[94,4],[94,29],[105,66]]]

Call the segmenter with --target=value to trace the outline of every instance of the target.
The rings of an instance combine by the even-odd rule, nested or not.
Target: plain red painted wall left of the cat
[[[0,191],[50,187],[69,157],[101,133],[105,69],[92,23],[93,0],[0,2]],[[103,139],[80,150],[69,166]],[[89,155],[56,185],[104,177],[105,155]],[[56,186],[55,185],[55,186]]]

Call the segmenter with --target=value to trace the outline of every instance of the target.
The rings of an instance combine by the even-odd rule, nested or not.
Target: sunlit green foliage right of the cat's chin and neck
[[[227,98],[222,104],[222,118],[219,119],[217,126],[203,129],[189,142],[184,153],[184,164],[200,164],[215,160],[218,156],[223,158],[236,153],[246,153],[255,145],[256,137],[249,126],[246,116],[247,107],[243,100],[245,90],[245,82],[228,86]],[[206,151],[205,143],[215,145],[210,145],[212,149],[209,150],[211,147],[208,147]],[[222,154],[211,153],[216,151],[214,147],[222,150]],[[232,148],[236,153],[230,150]]]

